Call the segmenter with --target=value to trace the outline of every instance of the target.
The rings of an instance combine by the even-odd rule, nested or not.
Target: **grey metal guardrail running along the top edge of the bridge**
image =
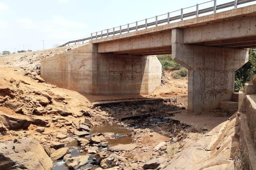
[[[184,18],[188,18],[188,17],[198,17],[200,14],[205,14],[205,13],[208,13],[208,12],[214,12],[216,13],[217,10],[221,10],[221,9],[225,9],[225,8],[230,8],[230,7],[234,7],[234,8],[237,8],[238,5],[240,4],[246,4],[248,2],[254,2],[256,0],[234,0],[232,2],[227,2],[225,4],[220,4],[220,5],[217,5],[216,4],[216,0],[210,0],[210,1],[207,1],[207,2],[203,2],[201,4],[196,4],[194,6],[190,6],[190,7],[187,7],[187,8],[181,8],[180,10],[176,10],[176,11],[172,11],[172,12],[168,12],[166,14],[162,14],[160,16],[164,16],[164,15],[167,15],[167,18],[165,19],[162,19],[162,20],[158,20],[158,17],[160,16],[155,16],[155,17],[152,17],[152,18],[146,18],[145,20],[140,20],[140,21],[136,21],[136,22],[133,22],[133,23],[128,23],[126,25],[120,25],[118,27],[113,27],[113,28],[110,28],[110,29],[105,29],[105,30],[102,30],[102,31],[97,31],[95,33],[91,33],[91,36],[90,37],[87,37],[87,38],[83,38],[83,39],[77,39],[77,40],[73,40],[73,41],[68,41],[67,43],[63,44],[63,45],[60,45],[59,47],[64,47],[66,45],[70,45],[71,43],[78,43],[78,42],[82,42],[82,44],[84,44],[85,41],[88,41],[88,40],[92,40],[92,39],[98,39],[98,38],[103,38],[103,37],[109,37],[110,35],[120,35],[122,33],[129,33],[129,31],[138,31],[138,29],[147,29],[148,27],[150,26],[158,26],[159,24],[162,24],[162,23],[166,23],[166,24],[169,24],[170,21],[175,21],[175,20],[180,20],[182,21]],[[209,7],[209,8],[204,8],[202,10],[199,10],[199,5],[202,5],[202,4],[206,4],[206,3],[209,3],[209,2],[213,2],[213,6],[212,7]],[[186,14],[183,14],[183,11],[185,9],[188,9],[188,8],[196,8],[196,11],[193,11],[193,12],[188,12]],[[180,11],[180,14],[177,15],[177,16],[172,16],[172,13],[175,13],[175,12],[178,12]],[[152,22],[149,22],[148,23],[148,20],[150,19],[153,19],[155,18],[155,21],[152,21]],[[138,22],[141,22],[141,21],[144,21],[144,24],[142,25],[138,25]],[[132,26],[130,27],[130,25],[132,24],[135,24],[135,26]],[[122,27],[126,27],[124,29],[122,29]],[[110,30],[112,30],[110,32]],[[106,33],[103,33],[104,31],[106,31]]]

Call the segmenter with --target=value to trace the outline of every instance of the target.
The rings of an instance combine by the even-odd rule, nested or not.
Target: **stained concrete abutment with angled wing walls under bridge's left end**
[[[149,94],[161,83],[156,56],[100,54],[88,43],[41,61],[41,76],[87,94]]]

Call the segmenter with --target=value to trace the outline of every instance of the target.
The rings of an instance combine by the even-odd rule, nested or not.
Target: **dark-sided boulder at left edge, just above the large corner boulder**
[[[28,116],[20,114],[10,115],[2,111],[0,111],[0,121],[2,121],[9,130],[28,129],[29,125],[32,123],[32,120]]]

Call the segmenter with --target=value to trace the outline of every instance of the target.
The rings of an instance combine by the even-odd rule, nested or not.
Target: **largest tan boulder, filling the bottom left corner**
[[[44,148],[32,138],[0,143],[1,170],[51,170],[52,160]]]

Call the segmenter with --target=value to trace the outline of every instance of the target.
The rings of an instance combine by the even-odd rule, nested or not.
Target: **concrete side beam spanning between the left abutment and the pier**
[[[132,53],[146,52],[154,49],[171,49],[171,31],[148,34],[147,36],[132,37],[98,44],[98,53]]]

